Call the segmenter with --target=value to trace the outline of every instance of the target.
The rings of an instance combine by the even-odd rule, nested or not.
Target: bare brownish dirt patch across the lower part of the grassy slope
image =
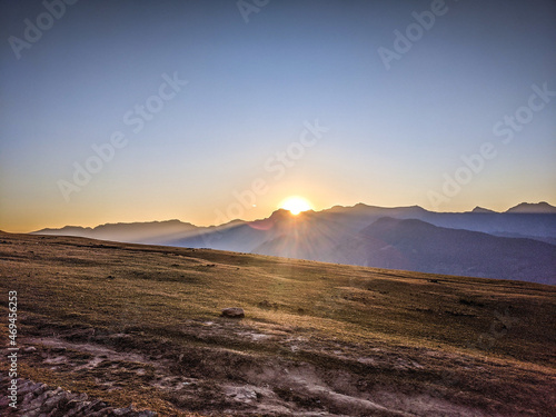
[[[221,324],[201,328],[205,327],[211,328],[211,331],[229,330]],[[276,328],[270,335],[260,329],[248,332],[247,328],[240,326],[236,337],[251,335],[254,342],[278,337]],[[181,410],[234,416],[409,416],[415,411],[424,411],[415,410],[416,403],[403,393],[390,391],[390,396],[387,396],[374,390],[361,390],[357,388],[358,385],[367,386],[360,384],[359,375],[337,367],[324,369],[298,358],[282,359],[264,351],[246,354],[208,346],[195,349],[168,346],[163,353],[159,349],[147,353],[130,348],[131,339],[137,346],[150,345],[148,340],[140,340],[133,335],[93,337],[110,342],[107,346],[66,340],[64,336],[75,338],[72,329],[68,329],[67,335],[58,329],[58,334],[59,337],[43,336],[24,340],[27,346],[33,348],[28,359],[34,366],[87,376],[96,380],[98,388],[108,393],[139,384],[158,391],[161,398]],[[282,331],[280,336],[284,342],[292,340],[288,331]],[[128,341],[125,350],[121,348],[122,340]],[[415,365],[399,358],[398,361],[405,368]],[[436,406],[440,403],[436,400]],[[414,408],[411,411],[409,406]],[[460,415],[469,413],[466,408],[450,407]]]

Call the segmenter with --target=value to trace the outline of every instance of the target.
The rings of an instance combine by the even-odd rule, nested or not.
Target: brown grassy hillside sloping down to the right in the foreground
[[[0,347],[17,290],[22,377],[115,406],[549,416],[556,405],[552,286],[9,234],[0,259]],[[220,318],[225,307],[246,318]]]

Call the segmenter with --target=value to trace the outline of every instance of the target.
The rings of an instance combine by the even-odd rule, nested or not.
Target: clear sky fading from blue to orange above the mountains
[[[556,3],[0,2],[0,229],[556,205]]]

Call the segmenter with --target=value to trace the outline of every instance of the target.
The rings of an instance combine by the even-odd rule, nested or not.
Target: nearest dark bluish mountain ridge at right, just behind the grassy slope
[[[556,284],[556,246],[381,218],[335,248],[337,262]]]

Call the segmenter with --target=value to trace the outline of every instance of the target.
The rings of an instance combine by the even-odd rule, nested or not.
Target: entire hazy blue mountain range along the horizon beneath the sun
[[[358,203],[198,227],[179,220],[67,226],[39,235],[210,248],[420,272],[556,284],[556,207],[435,212]]]

